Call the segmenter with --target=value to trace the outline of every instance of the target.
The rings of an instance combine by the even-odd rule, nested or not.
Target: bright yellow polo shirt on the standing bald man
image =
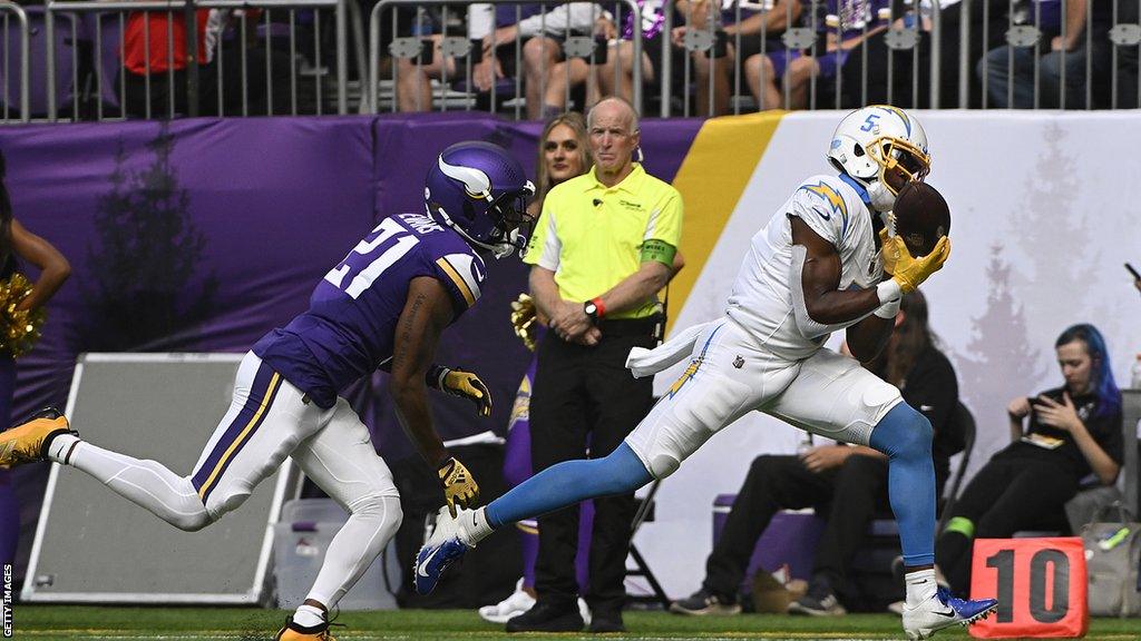
[[[547,194],[523,260],[553,271],[564,300],[590,300],[638,271],[646,241],[677,248],[681,216],[681,194],[641,164],[614,187],[591,170]],[[650,300],[607,318],[644,318],[656,310]]]

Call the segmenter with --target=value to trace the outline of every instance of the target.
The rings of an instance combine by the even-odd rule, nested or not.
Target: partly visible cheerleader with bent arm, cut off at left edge
[[[0,281],[10,282],[25,270],[25,262],[40,270],[31,292],[16,303],[18,314],[41,308],[71,275],[67,259],[51,243],[29,232],[13,217],[11,198],[5,184],[7,163],[0,153]],[[13,302],[5,300],[3,305]],[[3,323],[13,322],[5,313]],[[5,327],[5,333],[8,333]],[[8,339],[10,340],[10,338]],[[7,348],[7,346],[6,346]],[[16,391],[16,360],[11,351],[0,351],[0,425],[11,424],[13,395]],[[0,469],[0,563],[15,563],[19,538],[19,503],[11,486],[11,471]]]

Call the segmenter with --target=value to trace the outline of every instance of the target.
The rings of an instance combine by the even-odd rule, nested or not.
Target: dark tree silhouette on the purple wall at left
[[[98,201],[97,237],[88,245],[84,305],[91,315],[89,351],[162,349],[193,328],[213,306],[218,279],[201,275],[205,238],[189,217],[189,194],[170,161],[175,137],[165,127],[147,144],[154,160],[126,168],[122,146]]]

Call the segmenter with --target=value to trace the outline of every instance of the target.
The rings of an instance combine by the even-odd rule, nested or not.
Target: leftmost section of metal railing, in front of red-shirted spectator
[[[30,105],[21,114],[54,122],[349,113],[346,23],[354,10],[347,7],[346,0],[25,7],[21,33],[31,35],[32,47],[21,64],[32,80]],[[359,10],[355,14],[359,23]],[[3,26],[7,42],[15,30]],[[359,68],[365,52],[363,39],[356,42]],[[2,65],[14,62],[6,47]]]

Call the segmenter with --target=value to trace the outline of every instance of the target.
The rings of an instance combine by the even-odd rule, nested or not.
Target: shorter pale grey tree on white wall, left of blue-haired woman
[[[987,263],[987,307],[971,319],[966,354],[953,354],[964,401],[974,414],[978,439],[971,469],[1009,443],[1006,405],[1019,395],[1034,393],[1043,374],[1041,346],[1029,340],[1021,305],[1011,291],[1012,269],[1002,259],[1002,245],[990,248]]]

